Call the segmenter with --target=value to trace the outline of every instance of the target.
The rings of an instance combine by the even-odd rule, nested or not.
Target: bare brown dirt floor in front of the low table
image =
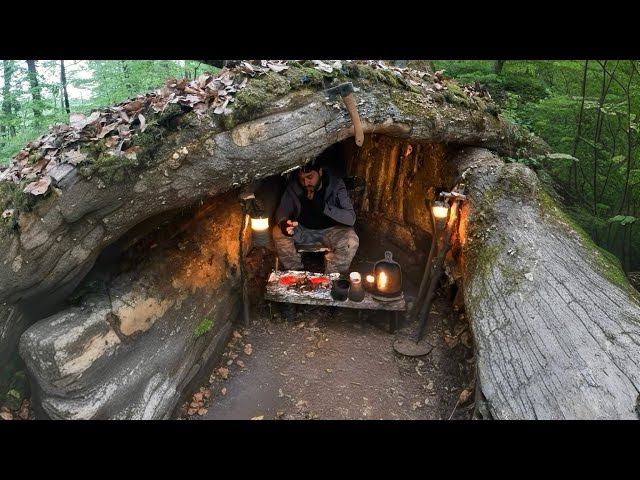
[[[285,320],[281,304],[253,313],[236,328],[222,360],[181,418],[222,419],[469,419],[475,360],[463,312],[442,291],[421,357],[397,353],[413,338],[407,319],[388,333],[389,312],[296,305]],[[271,315],[271,319],[269,318]]]

